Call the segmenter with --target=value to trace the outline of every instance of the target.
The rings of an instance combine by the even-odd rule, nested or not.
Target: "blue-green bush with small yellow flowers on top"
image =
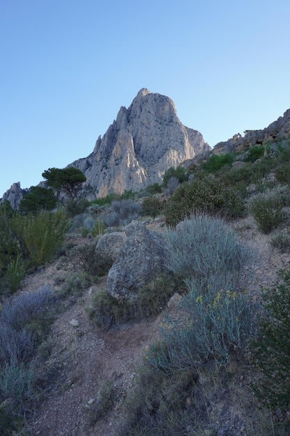
[[[179,318],[163,322],[163,347],[160,350],[153,344],[147,352],[156,371],[196,371],[210,360],[225,367],[230,355],[245,350],[254,332],[253,313],[244,295],[229,289],[197,290],[192,281],[188,281],[188,289]]]

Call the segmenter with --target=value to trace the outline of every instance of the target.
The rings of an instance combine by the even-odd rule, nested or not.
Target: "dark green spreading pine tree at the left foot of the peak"
[[[74,166],[49,168],[42,173],[42,177],[47,180],[47,186],[60,189],[69,198],[76,198],[83,182],[86,182],[86,176]]]

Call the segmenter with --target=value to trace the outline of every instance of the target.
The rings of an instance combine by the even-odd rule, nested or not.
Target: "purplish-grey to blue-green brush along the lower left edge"
[[[36,346],[47,336],[52,302],[54,293],[45,286],[3,304],[0,312],[1,435],[16,434],[14,431],[22,428],[26,414],[33,408],[38,388],[31,359]]]

